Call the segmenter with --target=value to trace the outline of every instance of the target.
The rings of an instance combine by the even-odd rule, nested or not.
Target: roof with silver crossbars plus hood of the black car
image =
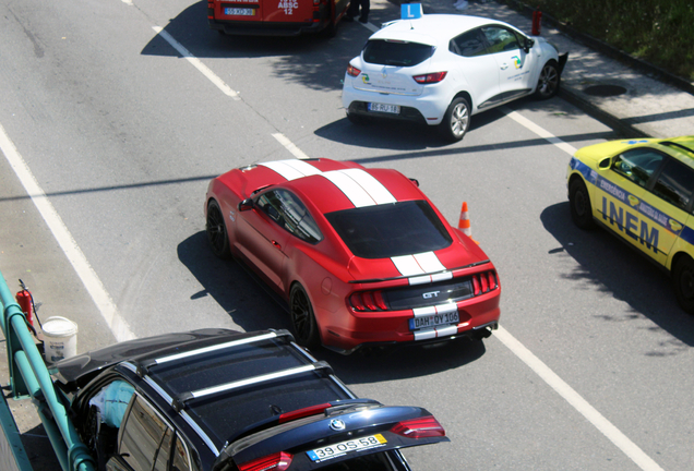
[[[63,385],[83,386],[118,364],[154,383],[217,450],[256,423],[354,398],[330,365],[286,330],[205,329],[131,340],[58,362],[56,376]]]

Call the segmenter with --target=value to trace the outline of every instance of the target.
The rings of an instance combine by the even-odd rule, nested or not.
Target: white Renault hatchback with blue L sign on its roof
[[[535,94],[559,90],[567,55],[510,24],[431,14],[387,23],[347,67],[347,118],[399,119],[439,125],[459,141],[470,116]]]

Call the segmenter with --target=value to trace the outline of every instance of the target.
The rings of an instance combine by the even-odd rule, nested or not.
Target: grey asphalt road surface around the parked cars
[[[241,268],[211,254],[202,214],[212,177],[291,158],[284,136],[310,157],[417,178],[451,221],[466,201],[499,268],[503,330],[483,343],[315,352],[358,395],[440,419],[452,443],[407,451],[414,469],[694,468],[694,317],[661,271],[569,215],[571,149],[624,136],[559,98],[476,116],[455,145],[414,125],[355,126],[340,80],[369,29],[225,38],[205,8],[0,1],[0,125],[16,149],[0,159],[0,270],[29,285],[41,318],[76,321],[80,351],[207,326],[287,328]],[[373,24],[397,15],[372,2]],[[57,217],[32,203],[16,158]],[[124,322],[111,329],[104,315]]]

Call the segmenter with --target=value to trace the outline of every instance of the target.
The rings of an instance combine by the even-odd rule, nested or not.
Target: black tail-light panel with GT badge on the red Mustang
[[[357,291],[349,297],[349,304],[358,312],[404,311],[459,302],[495,289],[499,289],[496,271],[489,270],[429,285]]]

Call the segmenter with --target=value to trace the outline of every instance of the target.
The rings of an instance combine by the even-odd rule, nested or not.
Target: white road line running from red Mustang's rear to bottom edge
[[[597,430],[612,442],[624,455],[626,455],[637,467],[644,471],[663,471],[657,462],[646,455],[626,435],[608,421],[596,408],[590,406],[578,392],[569,386],[557,373],[550,370],[540,359],[535,357],[523,343],[516,340],[506,329],[499,326],[494,333],[504,346],[516,357],[530,367],[538,376],[554,389],[562,398],[574,407],[584,418],[588,420]]]

